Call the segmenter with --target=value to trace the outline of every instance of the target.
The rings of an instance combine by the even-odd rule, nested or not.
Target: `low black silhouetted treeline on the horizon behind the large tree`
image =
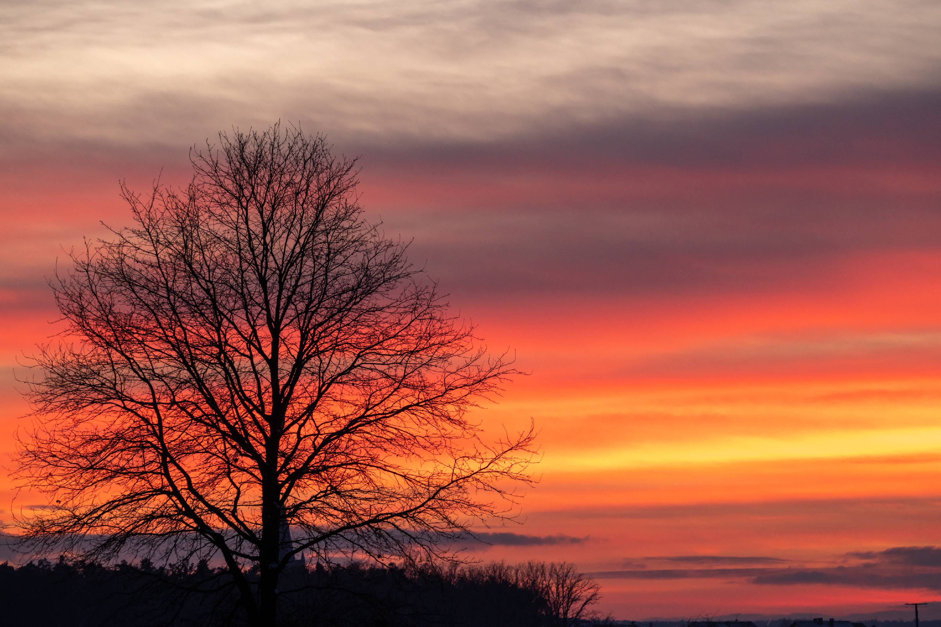
[[[254,574],[257,576],[257,573]],[[243,625],[224,569],[205,562],[155,569],[40,560],[0,565],[4,624]],[[296,566],[279,590],[279,624],[325,627],[566,627],[591,612],[598,585],[565,563],[376,568]]]

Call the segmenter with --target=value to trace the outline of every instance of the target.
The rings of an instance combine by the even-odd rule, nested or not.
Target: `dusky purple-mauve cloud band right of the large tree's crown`
[[[939,108],[922,91],[363,149],[364,198],[456,290],[832,290],[840,259],[941,247]],[[386,200],[387,180],[414,193]]]

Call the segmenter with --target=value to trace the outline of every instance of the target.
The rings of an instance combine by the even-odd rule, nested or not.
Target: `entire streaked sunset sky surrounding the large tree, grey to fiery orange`
[[[939,32],[936,0],[7,0],[2,465],[56,258],[130,221],[119,180],[281,119],[530,372],[479,417],[534,419],[541,480],[474,556],[573,561],[623,619],[941,601]],[[30,498],[4,474],[0,519]]]

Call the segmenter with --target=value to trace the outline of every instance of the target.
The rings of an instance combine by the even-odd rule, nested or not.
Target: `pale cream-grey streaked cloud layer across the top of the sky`
[[[185,145],[293,118],[373,143],[474,143],[941,76],[930,0],[53,0],[0,12],[8,142]]]

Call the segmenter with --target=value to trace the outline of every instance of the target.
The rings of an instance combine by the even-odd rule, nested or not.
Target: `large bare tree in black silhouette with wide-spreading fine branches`
[[[516,373],[362,215],[355,160],[275,125],[194,149],[188,187],[52,281],[67,330],[34,356],[22,485],[34,551],[217,556],[248,622],[318,560],[442,556],[512,515],[534,433],[467,410]]]

